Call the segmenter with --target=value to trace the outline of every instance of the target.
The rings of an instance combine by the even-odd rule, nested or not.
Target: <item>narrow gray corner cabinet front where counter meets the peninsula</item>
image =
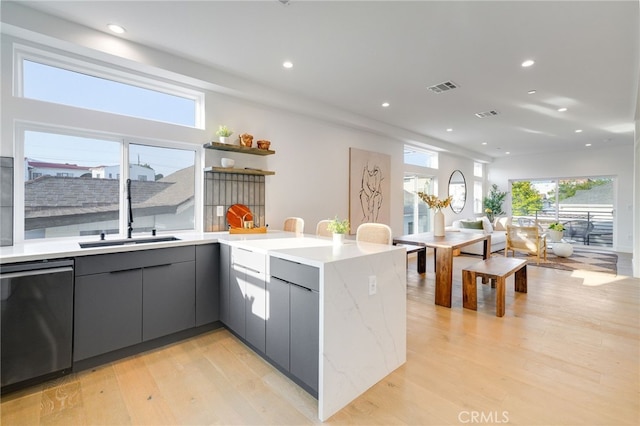
[[[220,320],[220,244],[196,246],[196,327]]]

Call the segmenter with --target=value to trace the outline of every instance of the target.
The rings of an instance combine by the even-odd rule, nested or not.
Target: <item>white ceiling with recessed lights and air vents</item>
[[[21,3],[490,157],[633,145],[638,0]]]

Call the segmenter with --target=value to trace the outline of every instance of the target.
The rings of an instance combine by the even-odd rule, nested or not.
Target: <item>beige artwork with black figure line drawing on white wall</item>
[[[349,148],[349,223],[355,234],[362,223],[391,221],[391,156]]]

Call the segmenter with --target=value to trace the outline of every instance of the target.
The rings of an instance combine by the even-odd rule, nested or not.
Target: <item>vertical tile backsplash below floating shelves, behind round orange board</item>
[[[204,230],[226,231],[227,209],[244,204],[256,226],[265,225],[265,177],[237,173],[207,172],[204,178]],[[217,215],[222,206],[222,216]]]

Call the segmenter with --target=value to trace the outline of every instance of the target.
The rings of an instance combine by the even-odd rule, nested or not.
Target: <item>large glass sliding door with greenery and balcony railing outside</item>
[[[511,182],[513,222],[546,230],[560,222],[575,244],[613,246],[615,178],[580,177]]]

